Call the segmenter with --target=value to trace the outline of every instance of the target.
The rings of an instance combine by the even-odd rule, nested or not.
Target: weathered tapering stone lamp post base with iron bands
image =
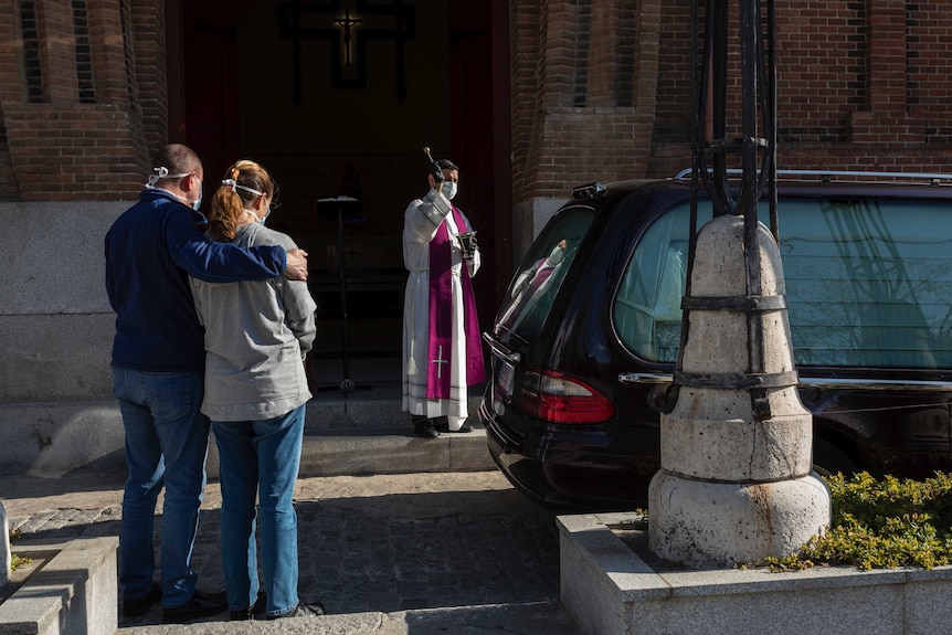
[[[829,491],[812,473],[812,416],[796,392],[780,252],[762,224],[759,308],[711,301],[750,306],[743,232],[742,216],[722,215],[698,233],[685,300],[700,308],[686,314],[685,380],[662,414],[662,468],[648,488],[652,551],[696,568],[790,555],[831,518]],[[749,371],[750,315],[763,332],[761,377]],[[738,388],[758,382],[765,416],[754,413],[752,389]]]

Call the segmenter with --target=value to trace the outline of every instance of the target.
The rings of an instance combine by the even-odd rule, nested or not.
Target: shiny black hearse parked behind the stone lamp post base
[[[816,469],[949,469],[952,177],[779,174]],[[484,334],[493,370],[479,416],[497,465],[529,497],[645,502],[659,465],[648,402],[677,360],[690,198],[680,179],[581,188],[522,261]],[[701,199],[698,222],[709,219]]]

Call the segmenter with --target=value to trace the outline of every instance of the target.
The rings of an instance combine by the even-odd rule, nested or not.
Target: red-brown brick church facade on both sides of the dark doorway
[[[776,4],[781,168],[950,170],[946,3]],[[510,1],[515,203],[690,165],[691,6]],[[163,15],[0,3],[0,200],[136,195],[168,137]]]

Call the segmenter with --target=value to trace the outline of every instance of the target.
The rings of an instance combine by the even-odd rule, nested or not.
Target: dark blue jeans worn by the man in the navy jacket
[[[191,568],[205,487],[209,420],[201,412],[202,373],[113,368],[113,393],[126,431],[128,476],[123,494],[119,583],[126,599],[148,593],[156,572],[152,522],[162,487],[162,605],[192,599]]]

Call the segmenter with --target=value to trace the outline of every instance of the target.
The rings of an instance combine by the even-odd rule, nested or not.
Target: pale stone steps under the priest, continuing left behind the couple
[[[328,384],[331,385],[331,384]],[[469,391],[469,434],[424,440],[402,411],[400,382],[321,391],[307,404],[302,476],[495,469],[476,412],[482,387]],[[0,474],[55,477],[80,468],[125,467],[123,420],[115,400],[0,404]],[[214,442],[209,475],[218,476]]]

